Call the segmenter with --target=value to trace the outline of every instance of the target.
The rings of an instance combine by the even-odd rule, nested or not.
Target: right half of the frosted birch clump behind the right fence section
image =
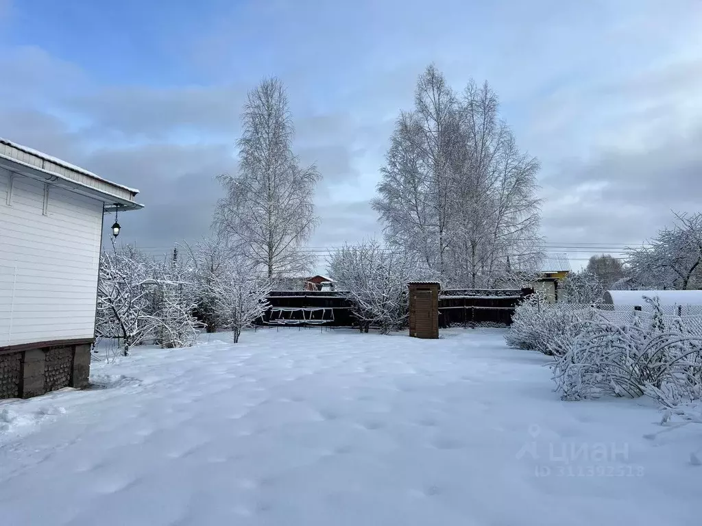
[[[539,164],[519,151],[488,83],[468,83],[458,111],[463,148],[453,180],[459,198],[451,222],[451,277],[456,285],[491,287],[508,256],[524,260],[538,252]]]

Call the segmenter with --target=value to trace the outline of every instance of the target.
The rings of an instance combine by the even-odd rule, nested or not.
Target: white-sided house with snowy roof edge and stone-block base
[[[102,218],[136,194],[0,139],[0,398],[87,384]]]

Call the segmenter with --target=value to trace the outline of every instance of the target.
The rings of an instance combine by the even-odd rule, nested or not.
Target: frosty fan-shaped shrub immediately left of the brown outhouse
[[[352,303],[359,329],[376,325],[387,334],[400,330],[409,317],[407,282],[417,276],[416,259],[404,250],[390,250],[377,241],[345,245],[329,258],[329,274],[337,290]]]

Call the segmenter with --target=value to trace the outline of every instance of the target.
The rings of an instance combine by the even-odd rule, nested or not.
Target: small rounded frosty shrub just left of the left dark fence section
[[[242,329],[265,314],[270,290],[270,279],[243,261],[230,261],[213,276],[208,294],[213,298],[218,322],[232,331],[234,343],[239,342]]]

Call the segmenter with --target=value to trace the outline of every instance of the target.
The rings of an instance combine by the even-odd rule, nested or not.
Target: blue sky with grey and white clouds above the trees
[[[140,189],[122,235],[161,253],[208,231],[275,74],[324,176],[310,245],[334,247],[381,233],[368,201],[430,62],[494,86],[574,265],[702,208],[699,0],[0,0],[0,137]]]

